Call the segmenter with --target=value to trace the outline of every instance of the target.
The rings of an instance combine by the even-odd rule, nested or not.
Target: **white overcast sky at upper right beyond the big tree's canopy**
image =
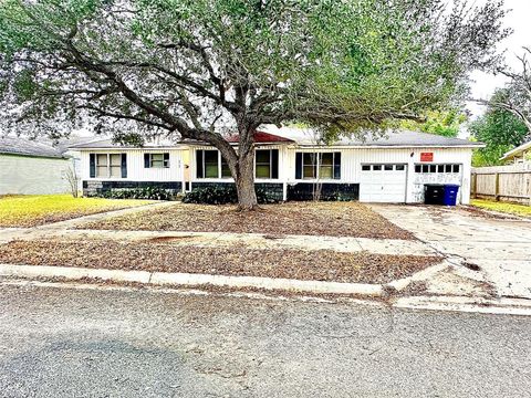
[[[485,0],[477,0],[480,4]],[[531,0],[506,0],[506,7],[512,11],[506,17],[506,25],[513,33],[500,44],[500,50],[507,50],[507,63],[520,70],[517,54],[522,54],[522,46],[531,46]],[[472,97],[488,98],[497,87],[502,87],[506,80],[502,76],[493,76],[481,72],[472,73]],[[469,111],[475,116],[483,112],[483,107],[476,103],[468,104]]]

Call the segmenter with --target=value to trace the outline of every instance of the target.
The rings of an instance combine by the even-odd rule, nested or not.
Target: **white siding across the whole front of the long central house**
[[[198,182],[233,182],[232,178],[197,178],[196,150],[214,149],[210,146],[187,146],[180,148],[157,149],[86,149],[82,151],[81,163],[83,180],[122,180],[122,181],[175,181],[190,182],[192,189]],[[295,179],[295,154],[298,151],[340,151],[341,179],[321,180],[330,184],[361,184],[362,165],[371,164],[400,164],[406,165],[407,177],[405,186],[405,201],[417,203],[424,201],[425,184],[456,184],[459,185],[459,201],[468,203],[470,199],[470,163],[471,148],[420,148],[420,147],[298,147],[292,144],[260,145],[257,149],[279,149],[279,179],[257,179],[257,182],[282,184],[284,198],[288,185],[312,182],[308,179]],[[127,154],[127,178],[102,179],[90,178],[90,154]],[[166,169],[144,168],[145,153],[169,153],[170,167]],[[433,153],[434,160],[421,163],[421,153]],[[416,174],[415,165],[460,165],[460,172]],[[185,166],[188,166],[186,168]]]

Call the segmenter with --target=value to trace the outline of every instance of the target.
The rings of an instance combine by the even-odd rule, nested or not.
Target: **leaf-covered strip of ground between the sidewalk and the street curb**
[[[0,263],[361,283],[388,283],[440,261],[436,256],[368,252],[199,248],[106,240],[77,242],[43,239],[0,245]]]

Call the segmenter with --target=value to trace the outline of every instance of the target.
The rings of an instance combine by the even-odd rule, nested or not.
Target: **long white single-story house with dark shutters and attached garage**
[[[267,126],[254,138],[256,185],[281,200],[311,199],[319,185],[324,197],[418,203],[426,184],[457,184],[460,202],[468,203],[472,150],[482,147],[415,132],[319,145],[309,130]],[[184,192],[233,184],[219,151],[200,142],[132,147],[101,140],[72,149],[81,151],[85,196],[147,186]]]

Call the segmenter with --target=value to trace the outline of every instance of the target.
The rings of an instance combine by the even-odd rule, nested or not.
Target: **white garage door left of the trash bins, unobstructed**
[[[406,180],[407,165],[362,165],[360,201],[404,203]]]

